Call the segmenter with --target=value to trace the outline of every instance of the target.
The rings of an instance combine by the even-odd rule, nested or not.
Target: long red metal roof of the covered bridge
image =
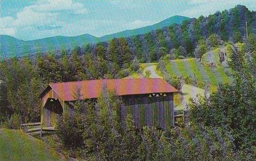
[[[64,101],[77,100],[76,93],[80,91],[79,99],[98,98],[102,86],[114,90],[117,95],[134,95],[146,93],[174,93],[179,92],[161,78],[138,79],[98,79],[78,82],[51,83],[49,86]],[[44,93],[44,92],[43,92]]]

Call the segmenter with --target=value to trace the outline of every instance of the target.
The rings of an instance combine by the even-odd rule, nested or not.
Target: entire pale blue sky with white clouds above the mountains
[[[166,18],[208,16],[256,0],[0,0],[0,34],[21,40],[57,35],[97,37]]]

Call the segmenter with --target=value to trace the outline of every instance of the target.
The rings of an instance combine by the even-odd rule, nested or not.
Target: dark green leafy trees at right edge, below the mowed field
[[[210,98],[192,102],[191,119],[205,126],[229,128],[236,147],[247,149],[256,144],[256,82],[243,58],[244,53],[235,47],[232,50],[229,66],[234,82],[219,87]]]

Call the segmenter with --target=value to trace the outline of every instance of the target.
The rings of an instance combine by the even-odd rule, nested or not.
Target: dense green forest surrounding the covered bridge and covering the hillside
[[[244,44],[242,49],[238,42]],[[63,115],[55,139],[70,156],[88,160],[254,160],[256,12],[244,6],[148,34],[85,44],[58,54],[50,51],[2,60],[0,125],[19,128],[20,123],[39,121],[38,96],[49,83],[123,78],[137,71],[141,62],[160,60],[165,79],[177,87],[178,78],[161,68],[165,59],[195,57],[200,61],[211,48],[227,44],[233,83],[192,101],[189,124],[166,131],[157,127],[137,130],[131,117],[120,123],[121,100],[102,91],[97,104],[76,102],[75,117]]]

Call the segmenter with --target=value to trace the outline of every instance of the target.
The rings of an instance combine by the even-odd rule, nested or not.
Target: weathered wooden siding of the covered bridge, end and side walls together
[[[132,117],[135,121],[135,126],[141,128],[143,126],[157,126],[161,128],[166,128],[166,125],[174,125],[174,104],[173,104],[173,93],[165,93],[166,96],[159,97],[149,97],[149,94],[140,95],[128,95],[123,96],[125,106],[121,107],[121,119],[124,120],[128,114],[127,106],[131,111]],[[47,109],[48,98],[58,98],[56,93],[50,90],[46,96],[43,98],[43,108],[42,108],[42,125],[43,127],[55,126],[56,119],[59,117],[55,116],[53,111]],[[66,110],[69,114],[73,115],[74,110],[69,105],[69,102],[63,102],[60,98],[58,100],[63,107],[63,111]],[[167,102],[167,108],[164,105]],[[164,103],[164,104],[163,104]],[[144,106],[144,109],[141,108]],[[142,112],[142,113],[141,113]],[[166,117],[167,116],[167,117]],[[141,122],[141,123],[140,123]]]

